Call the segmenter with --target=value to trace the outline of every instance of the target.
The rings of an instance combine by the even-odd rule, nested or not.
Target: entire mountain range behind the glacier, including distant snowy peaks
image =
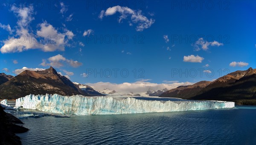
[[[56,72],[53,67],[46,70],[24,70],[15,77],[0,73],[0,99],[17,99],[29,94],[104,96],[102,94],[140,96],[134,92],[116,92],[104,89],[97,92],[92,87],[73,83]],[[256,105],[256,69],[238,70],[215,81],[200,81],[193,85],[175,89],[152,91],[142,95],[190,100],[227,100],[236,104]]]

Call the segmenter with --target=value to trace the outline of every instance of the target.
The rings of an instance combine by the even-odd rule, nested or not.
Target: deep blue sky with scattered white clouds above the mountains
[[[52,65],[79,83],[172,84],[256,68],[253,0],[7,2],[0,68],[9,74]]]

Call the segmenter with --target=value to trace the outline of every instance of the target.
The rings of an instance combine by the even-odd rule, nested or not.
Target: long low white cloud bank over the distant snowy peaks
[[[190,82],[174,82],[171,84],[157,84],[157,83],[150,83],[150,82],[134,82],[134,83],[122,83],[122,84],[114,84],[110,82],[98,82],[98,83],[87,83],[87,85],[93,87],[93,89],[97,91],[102,91],[105,88],[113,89],[116,92],[137,92],[137,93],[143,93],[148,91],[148,89],[151,90],[162,90],[164,88],[167,89],[174,89],[178,86],[186,86],[186,85],[192,85],[194,83]]]

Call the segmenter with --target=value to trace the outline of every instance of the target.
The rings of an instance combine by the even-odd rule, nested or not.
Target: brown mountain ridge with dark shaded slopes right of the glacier
[[[240,105],[256,105],[256,69],[238,70],[216,79],[179,86],[159,97],[191,100],[225,100]]]

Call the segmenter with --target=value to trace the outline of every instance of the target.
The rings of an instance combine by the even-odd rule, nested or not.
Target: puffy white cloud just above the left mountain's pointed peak
[[[58,54],[56,56],[52,56],[50,58],[43,59],[40,65],[42,66],[52,66],[52,67],[63,67],[65,64],[70,65],[71,67],[79,67],[82,65],[81,62],[73,61],[72,59],[66,59],[62,55]]]

